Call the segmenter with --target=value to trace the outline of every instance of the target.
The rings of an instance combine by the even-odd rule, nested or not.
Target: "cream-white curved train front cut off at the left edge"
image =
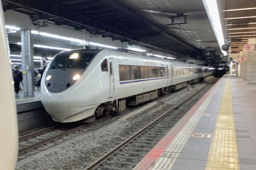
[[[0,84],[0,169],[14,170],[18,158],[18,121],[6,35],[5,18],[0,1],[0,77],[2,80]]]

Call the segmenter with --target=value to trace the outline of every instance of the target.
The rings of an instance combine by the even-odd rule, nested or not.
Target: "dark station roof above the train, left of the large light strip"
[[[197,55],[202,49],[211,47],[220,53],[202,0],[2,2],[4,10],[26,13],[37,25],[50,21],[162,52]]]

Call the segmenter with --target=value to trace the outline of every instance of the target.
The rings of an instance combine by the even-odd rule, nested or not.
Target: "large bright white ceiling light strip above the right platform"
[[[219,19],[219,11],[216,0],[202,0],[204,4],[204,8],[206,9],[208,18],[212,25],[212,29],[214,31],[215,37],[218,41],[219,49],[224,55],[227,55],[227,52],[222,50],[222,45],[225,44],[224,37],[222,33],[221,22]]]

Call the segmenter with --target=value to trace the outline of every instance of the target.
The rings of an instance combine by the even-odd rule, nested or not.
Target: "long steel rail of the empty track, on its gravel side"
[[[172,107],[172,109],[168,110],[167,112],[163,113],[161,116],[159,116],[157,119],[155,119],[154,121],[152,121],[151,123],[149,123],[148,125],[146,125],[145,127],[143,127],[141,130],[137,131],[135,134],[133,134],[132,136],[130,136],[128,139],[126,139],[125,141],[123,141],[122,143],[120,143],[119,145],[117,145],[115,148],[113,148],[111,151],[109,151],[107,154],[103,155],[101,158],[99,158],[98,160],[94,161],[92,164],[90,164],[90,166],[87,166],[85,169],[83,170],[93,170],[96,169],[100,166],[100,164],[104,163],[105,160],[107,160],[109,157],[113,156],[119,149],[123,148],[123,146],[125,146],[127,143],[131,142],[133,139],[135,139],[137,136],[139,136],[140,134],[142,134],[144,131],[146,131],[148,128],[150,128],[152,125],[154,125],[156,122],[160,121],[160,119],[162,119],[163,117],[165,117],[166,115],[170,114],[171,112],[174,112],[175,110],[177,110],[180,106],[182,106],[184,103],[186,103],[188,100],[190,100],[192,97],[194,97],[195,95],[197,95],[200,91],[202,91],[202,89],[206,88],[207,86],[209,86],[210,84],[212,84],[213,82],[216,83],[217,79],[214,79],[212,82],[208,83],[206,86],[204,86],[203,88],[201,88],[200,90],[198,90],[197,92],[195,92],[194,94],[190,95],[189,97],[187,97],[185,100],[181,101],[180,103],[178,103],[176,106]]]

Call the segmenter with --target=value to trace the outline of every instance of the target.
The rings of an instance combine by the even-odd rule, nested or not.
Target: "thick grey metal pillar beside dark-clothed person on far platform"
[[[21,71],[23,74],[24,95],[34,95],[34,50],[30,30],[21,30]]]

